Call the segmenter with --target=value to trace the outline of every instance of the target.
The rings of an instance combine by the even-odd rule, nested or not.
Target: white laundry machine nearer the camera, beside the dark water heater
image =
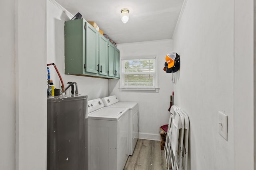
[[[129,156],[129,109],[88,101],[89,170],[123,170]]]

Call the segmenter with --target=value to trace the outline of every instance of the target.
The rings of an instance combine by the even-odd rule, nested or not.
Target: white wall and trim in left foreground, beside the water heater
[[[0,169],[45,170],[46,2],[4,0],[0,14]]]

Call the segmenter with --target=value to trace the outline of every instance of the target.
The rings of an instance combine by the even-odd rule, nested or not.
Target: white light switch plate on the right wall
[[[219,111],[218,129],[219,134],[228,141],[228,116]]]

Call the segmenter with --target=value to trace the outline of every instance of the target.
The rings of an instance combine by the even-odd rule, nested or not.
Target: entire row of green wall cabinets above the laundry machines
[[[117,50],[83,18],[65,22],[65,74],[118,78]]]

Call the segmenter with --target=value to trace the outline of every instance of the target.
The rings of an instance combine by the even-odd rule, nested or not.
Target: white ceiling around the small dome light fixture
[[[56,0],[71,14],[80,12],[116,43],[170,39],[183,0]],[[128,8],[130,19],[122,23],[120,10]]]

